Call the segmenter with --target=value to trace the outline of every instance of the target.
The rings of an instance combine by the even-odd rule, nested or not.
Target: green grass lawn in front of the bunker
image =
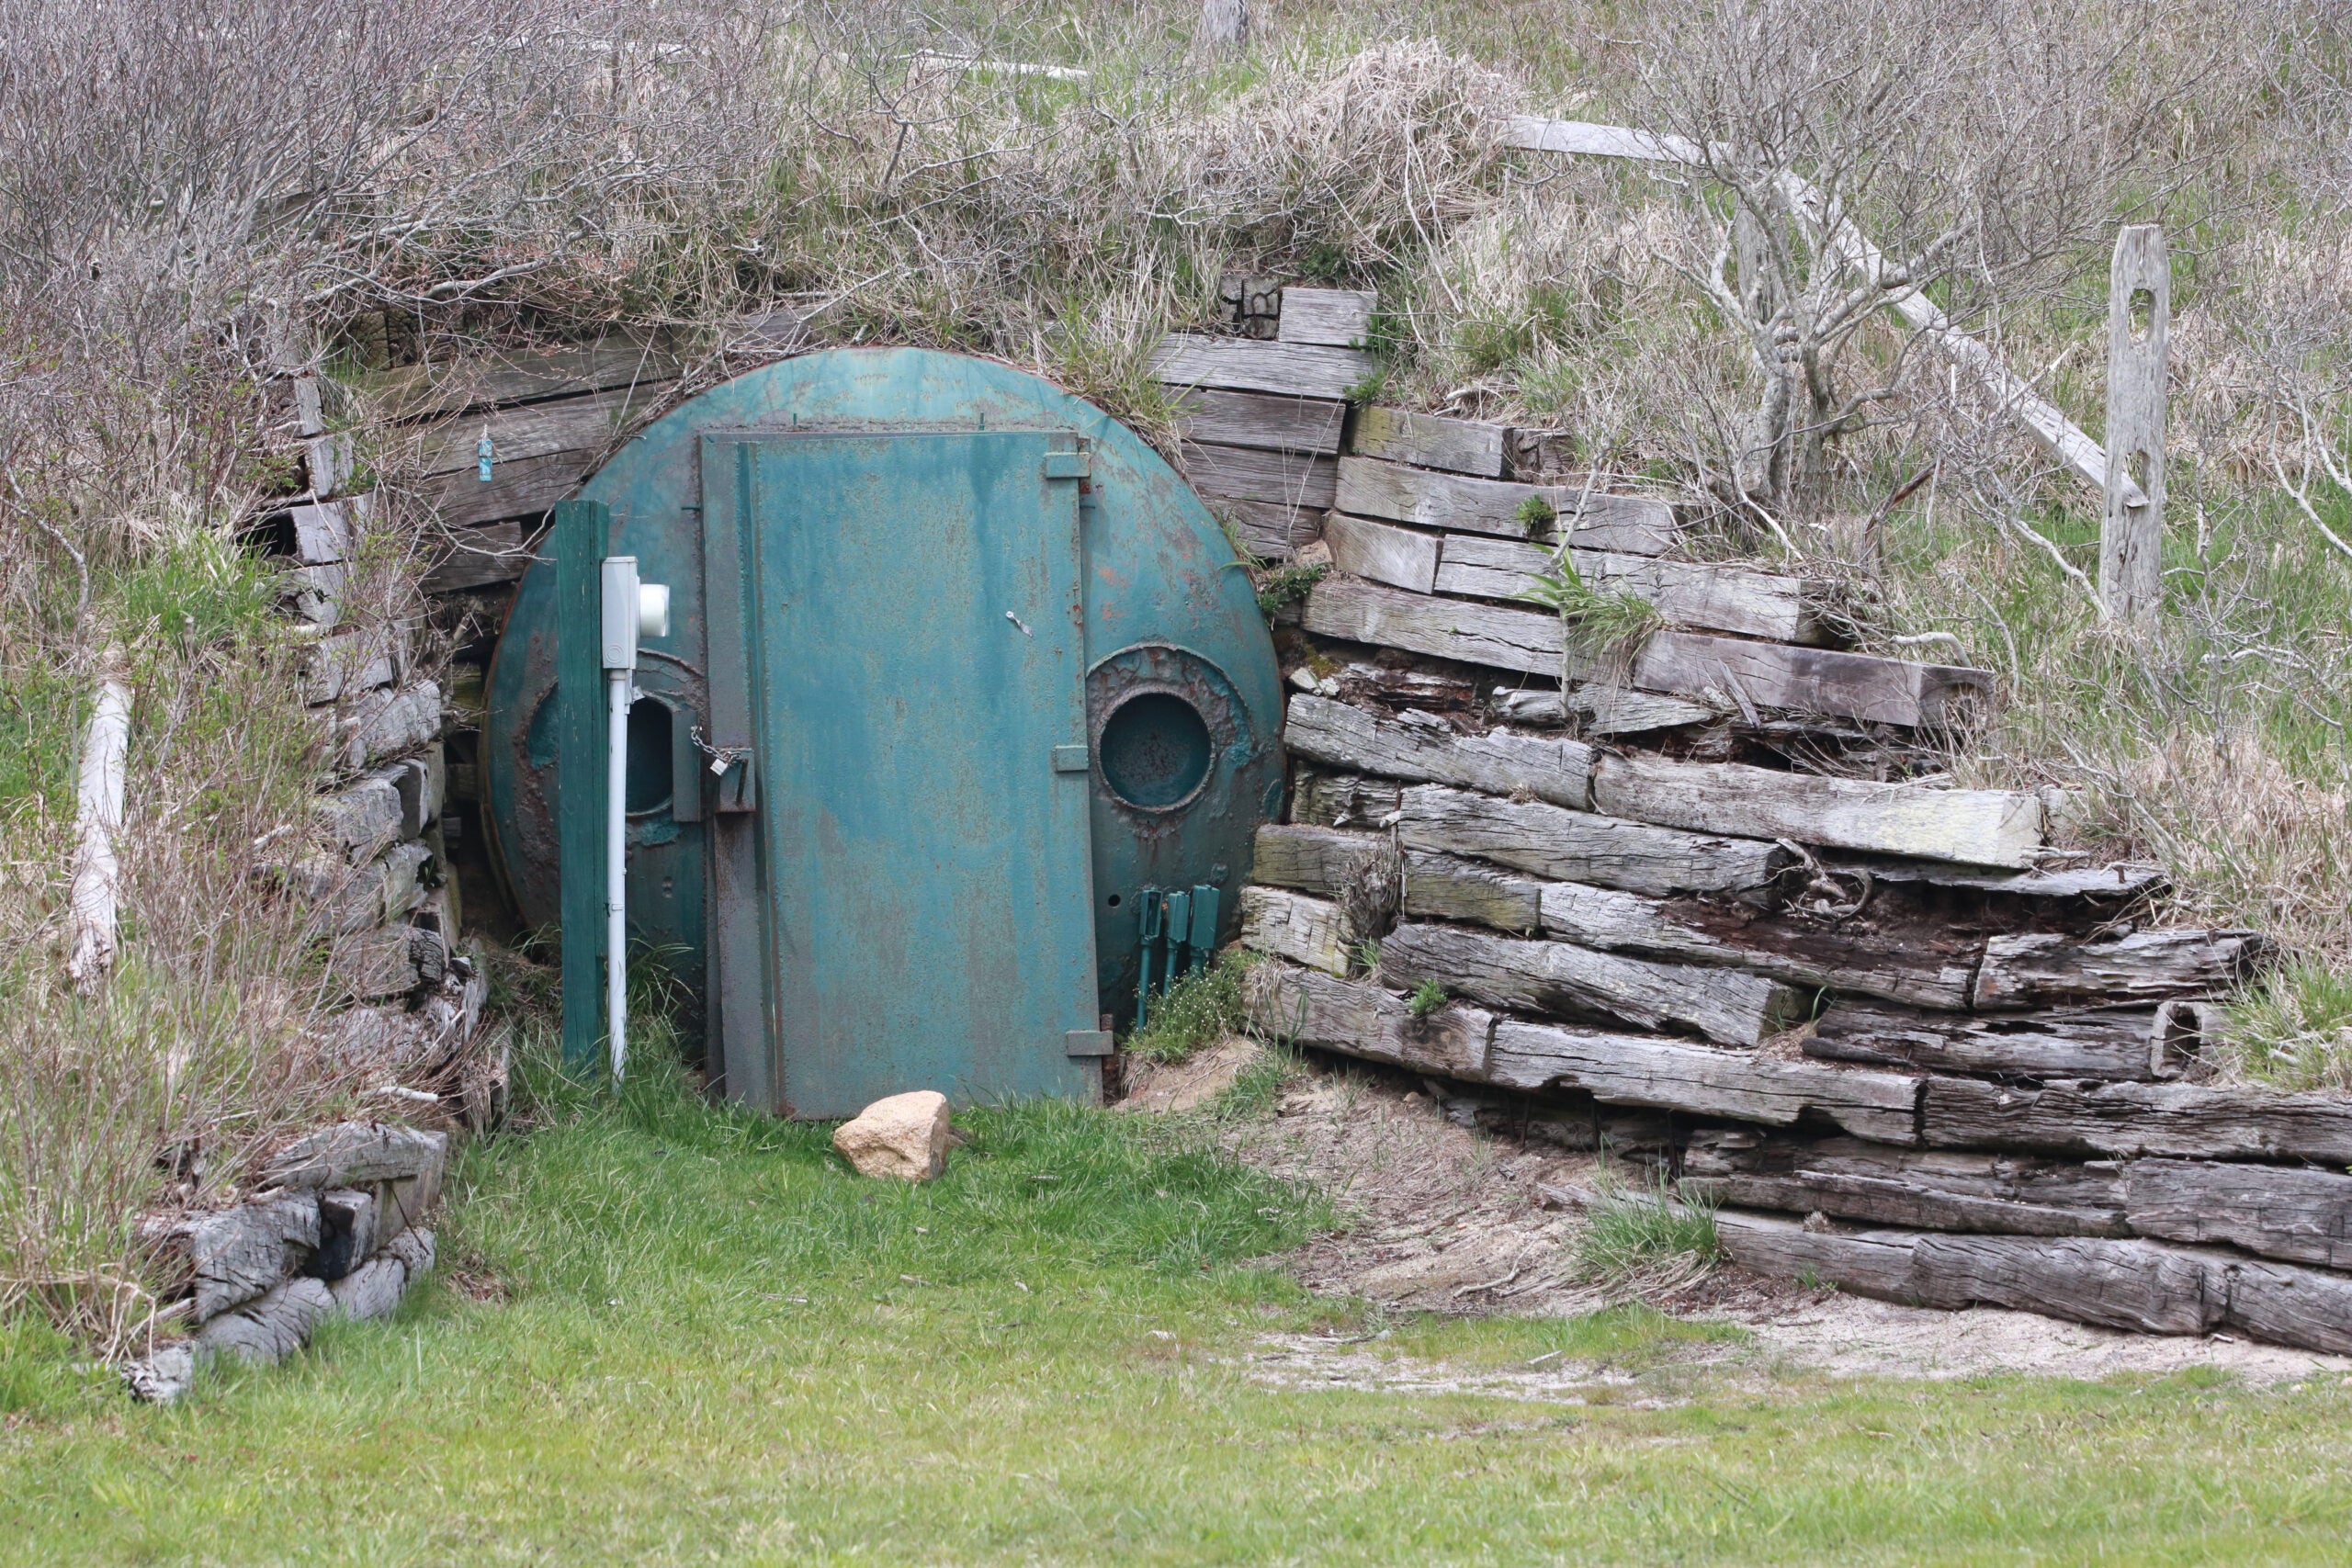
[[[1383,1324],[1249,1262],[1327,1211],[1197,1133],[960,1121],[931,1187],[659,1084],[477,1145],[445,1274],[506,1300],[435,1284],[179,1408],[0,1340],[0,1561],[2352,1556],[2333,1382],[1823,1382],[1686,1363],[1708,1331],[1649,1314]],[[1637,1382],[1564,1406],[1247,1375],[1263,1335],[1381,1328],[1359,1354],[1562,1349]]]

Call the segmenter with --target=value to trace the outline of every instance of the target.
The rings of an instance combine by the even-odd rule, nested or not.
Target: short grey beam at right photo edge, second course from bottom
[[[2227,1241],[2265,1258],[2352,1269],[2352,1175],[2206,1159],[2133,1159],[2124,1215],[2143,1237]]]

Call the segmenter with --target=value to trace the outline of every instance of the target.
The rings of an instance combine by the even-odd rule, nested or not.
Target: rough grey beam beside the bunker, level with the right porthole
[[[1583,741],[1515,736],[1505,729],[1463,736],[1421,710],[1383,719],[1348,703],[1298,693],[1282,726],[1282,745],[1296,757],[1350,773],[1449,783],[1491,795],[1526,792],[1573,809],[1590,802],[1585,773],[1592,748]]]

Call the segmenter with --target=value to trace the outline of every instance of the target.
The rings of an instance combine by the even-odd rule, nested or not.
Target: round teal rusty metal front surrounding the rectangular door
[[[983,428],[1075,433],[1089,456],[1080,482],[1089,743],[1110,712],[1101,705],[1108,696],[1152,682],[1197,708],[1216,736],[1209,778],[1174,809],[1127,806],[1098,766],[1087,773],[1101,1006],[1127,1020],[1136,985],[1134,891],[1143,882],[1223,886],[1230,936],[1230,893],[1249,872],[1251,832],[1279,809],[1282,790],[1282,693],[1249,576],[1155,451],[1101,409],[1004,364],[924,350],[828,350],[769,364],[673,409],[593,475],[583,496],[612,508],[612,548],[635,555],[647,581],[670,583],[670,637],[647,644],[642,684],[682,717],[703,715],[708,733],[701,435]],[[532,924],[557,914],[560,759],[548,733],[534,741],[555,682],[553,609],[553,574],[534,564],[517,585],[487,689],[492,837]],[[696,788],[706,811],[727,811],[708,769]],[[635,933],[668,950],[696,983],[706,976],[717,820],[724,816],[682,825],[675,811],[630,820]],[[774,1107],[790,1086],[764,1084],[753,1098]]]

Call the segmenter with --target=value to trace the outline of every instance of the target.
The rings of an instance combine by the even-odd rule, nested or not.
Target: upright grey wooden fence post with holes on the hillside
[[[2171,317],[2164,230],[2131,223],[2107,270],[2107,512],[2098,597],[2117,621],[2154,621],[2164,597],[2164,331]],[[2131,501],[2133,487],[2140,503]]]

